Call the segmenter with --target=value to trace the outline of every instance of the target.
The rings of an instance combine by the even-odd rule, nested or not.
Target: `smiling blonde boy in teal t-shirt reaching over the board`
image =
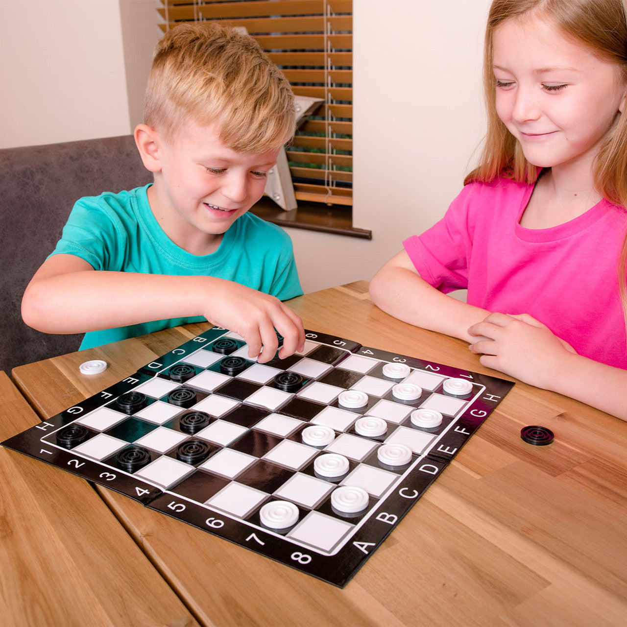
[[[249,36],[183,24],[157,45],[144,120],[135,143],[154,183],[76,203],[24,292],[24,322],[87,332],[82,349],[204,319],[260,362],[275,328],[280,357],[302,349],[280,302],[302,294],[292,242],[246,213],[295,130],[285,77]]]

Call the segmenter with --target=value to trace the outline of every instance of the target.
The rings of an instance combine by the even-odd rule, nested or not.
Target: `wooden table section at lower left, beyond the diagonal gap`
[[[38,421],[0,372],[0,440]],[[0,486],[0,624],[196,624],[86,481],[0,448]]]

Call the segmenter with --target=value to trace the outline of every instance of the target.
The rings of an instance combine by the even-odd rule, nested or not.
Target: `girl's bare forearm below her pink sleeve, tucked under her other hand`
[[[468,327],[490,313],[439,292],[424,281],[406,251],[401,251],[379,270],[370,283],[372,302],[403,322],[474,341]]]

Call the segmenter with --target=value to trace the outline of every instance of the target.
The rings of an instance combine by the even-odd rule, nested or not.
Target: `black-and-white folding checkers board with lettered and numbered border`
[[[409,369],[394,379],[386,364]],[[470,394],[446,393],[451,378],[469,381]],[[399,383],[421,396],[400,401]],[[302,353],[258,364],[241,337],[214,327],[3,444],[344,586],[512,386],[310,331]],[[340,404],[347,390],[366,403]],[[443,421],[417,428],[415,409]],[[385,433],[358,435],[364,416],[384,421]],[[334,440],[304,443],[313,425],[332,429]],[[391,443],[408,446],[411,461],[381,463],[377,451]],[[349,461],[341,477],[316,472],[327,453]],[[337,511],[331,495],[340,486],[365,490],[367,506]],[[265,527],[260,510],[272,501],[295,505],[297,522]]]

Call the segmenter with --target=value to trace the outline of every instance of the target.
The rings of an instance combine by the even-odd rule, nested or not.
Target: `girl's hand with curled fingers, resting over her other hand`
[[[576,354],[542,322],[529,314],[490,314],[472,325],[470,350],[483,354],[483,366],[505,372],[536,387],[549,387],[567,353]]]

